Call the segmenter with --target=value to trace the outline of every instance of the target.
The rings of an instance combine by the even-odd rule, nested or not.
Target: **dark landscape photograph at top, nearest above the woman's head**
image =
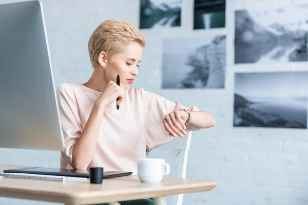
[[[182,0],[140,0],[140,29],[181,26]]]

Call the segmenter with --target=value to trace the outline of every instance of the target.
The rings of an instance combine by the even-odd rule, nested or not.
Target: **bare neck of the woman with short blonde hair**
[[[100,68],[94,68],[90,79],[83,84],[84,86],[103,92],[108,85],[108,80],[106,79],[105,73]]]

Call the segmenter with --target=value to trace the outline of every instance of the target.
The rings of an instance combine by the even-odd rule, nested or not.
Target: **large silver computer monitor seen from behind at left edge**
[[[0,5],[0,148],[64,148],[42,5]]]

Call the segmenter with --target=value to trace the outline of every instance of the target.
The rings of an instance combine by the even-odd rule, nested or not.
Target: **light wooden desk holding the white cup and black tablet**
[[[0,172],[14,168],[23,167],[0,165]],[[59,182],[4,177],[0,178],[0,196],[69,205],[112,204],[152,197],[156,204],[165,204],[164,196],[210,191],[216,185],[215,181],[175,178],[164,178],[160,183],[142,183],[135,175],[104,179],[101,185],[93,185],[89,179],[82,182]]]

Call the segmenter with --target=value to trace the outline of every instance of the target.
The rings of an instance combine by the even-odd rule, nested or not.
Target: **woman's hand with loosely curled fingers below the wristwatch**
[[[188,114],[183,111],[173,111],[169,114],[165,115],[165,118],[163,119],[163,125],[167,132],[169,133],[169,136],[176,137],[177,135],[180,137],[183,137],[187,134],[185,121],[188,118]]]

